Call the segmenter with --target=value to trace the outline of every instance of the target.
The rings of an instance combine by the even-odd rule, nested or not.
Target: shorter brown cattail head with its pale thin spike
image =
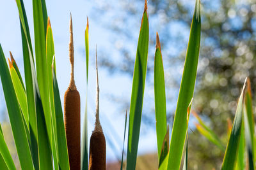
[[[96,121],[95,129],[90,139],[89,170],[106,169],[106,139],[102,132],[99,120],[99,78],[97,66],[97,46],[96,46]]]

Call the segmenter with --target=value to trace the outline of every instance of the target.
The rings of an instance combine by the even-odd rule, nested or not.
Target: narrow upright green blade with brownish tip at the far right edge
[[[244,97],[244,135],[246,141],[246,150],[249,159],[249,169],[254,169],[254,118],[252,109],[252,92],[250,79],[247,79],[247,89]]]

